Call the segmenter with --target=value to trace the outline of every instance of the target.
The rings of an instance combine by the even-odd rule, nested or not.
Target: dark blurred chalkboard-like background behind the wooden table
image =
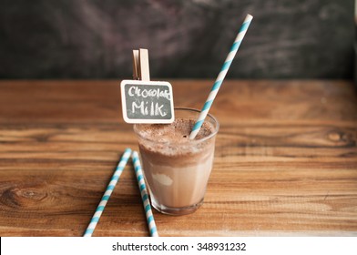
[[[0,78],[214,78],[247,13],[228,77],[352,79],[353,0],[0,0]]]

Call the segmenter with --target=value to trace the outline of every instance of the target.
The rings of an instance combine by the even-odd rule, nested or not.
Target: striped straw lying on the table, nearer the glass
[[[152,215],[150,201],[148,200],[148,190],[147,186],[145,185],[140,159],[138,158],[138,152],[134,150],[131,158],[133,159],[135,174],[137,175],[138,179],[138,189],[140,189],[141,199],[143,200],[143,206],[145,209],[145,216],[147,217],[148,221],[148,230],[150,231],[150,236],[158,237],[158,230],[155,224],[154,216]]]

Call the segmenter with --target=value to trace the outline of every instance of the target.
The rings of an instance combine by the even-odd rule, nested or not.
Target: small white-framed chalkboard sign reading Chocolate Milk
[[[172,87],[164,81],[123,80],[120,84],[124,120],[128,123],[172,123]]]

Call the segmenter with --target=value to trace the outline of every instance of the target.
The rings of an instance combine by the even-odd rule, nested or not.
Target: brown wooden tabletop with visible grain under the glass
[[[0,82],[0,236],[81,236],[125,148],[119,81]],[[212,81],[172,80],[200,108]],[[204,205],[161,236],[356,236],[357,97],[348,81],[226,81]],[[94,236],[148,236],[129,164]]]

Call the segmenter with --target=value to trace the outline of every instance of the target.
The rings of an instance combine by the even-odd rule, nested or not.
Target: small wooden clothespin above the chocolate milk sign
[[[133,78],[135,80],[150,81],[148,49],[133,50]]]

